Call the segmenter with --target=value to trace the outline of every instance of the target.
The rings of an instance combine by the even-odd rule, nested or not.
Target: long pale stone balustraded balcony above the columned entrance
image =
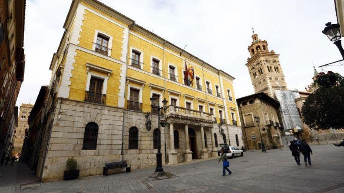
[[[189,117],[189,118],[194,118],[194,119],[202,119],[202,120],[206,120],[206,121],[213,121],[213,115],[210,113],[205,113],[202,111],[195,111],[192,109],[186,109],[183,107],[179,107],[179,106],[173,106],[173,105],[169,105],[166,109],[166,116],[169,115],[179,115],[179,116],[183,116],[183,117]]]

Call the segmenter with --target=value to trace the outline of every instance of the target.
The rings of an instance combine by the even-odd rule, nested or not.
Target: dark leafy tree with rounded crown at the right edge
[[[344,79],[339,78],[332,87],[320,86],[307,97],[301,113],[310,128],[344,128]]]

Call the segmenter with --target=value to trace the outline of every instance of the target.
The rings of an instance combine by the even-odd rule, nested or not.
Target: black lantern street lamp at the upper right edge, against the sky
[[[344,50],[342,47],[342,41],[340,40],[341,32],[339,30],[339,24],[331,24],[331,22],[327,22],[325,25],[326,27],[324,28],[322,33],[325,34],[331,42],[334,42],[334,45],[337,46],[344,59]]]

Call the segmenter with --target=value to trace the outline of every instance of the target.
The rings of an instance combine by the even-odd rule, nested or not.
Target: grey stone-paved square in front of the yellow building
[[[108,176],[97,175],[71,181],[41,183],[22,192],[344,192],[344,148],[311,146],[313,166],[299,166],[287,148],[246,151],[244,157],[229,159],[231,175],[222,176],[218,158],[174,166],[132,170]],[[9,190],[11,191],[11,190]]]

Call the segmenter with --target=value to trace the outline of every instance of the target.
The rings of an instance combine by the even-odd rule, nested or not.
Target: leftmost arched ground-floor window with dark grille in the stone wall
[[[83,150],[97,149],[98,128],[95,122],[87,123],[85,127]]]

